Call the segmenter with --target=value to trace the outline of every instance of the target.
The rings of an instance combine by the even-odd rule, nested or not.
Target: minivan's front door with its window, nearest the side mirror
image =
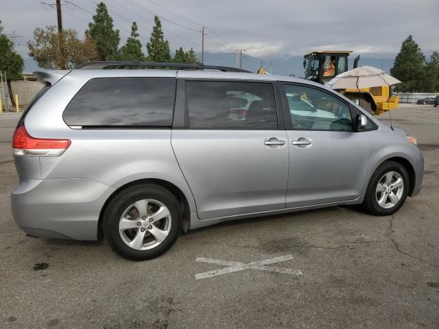
[[[369,140],[366,132],[353,132],[348,103],[322,88],[300,84],[285,84],[282,94],[290,150],[286,207],[360,197]]]

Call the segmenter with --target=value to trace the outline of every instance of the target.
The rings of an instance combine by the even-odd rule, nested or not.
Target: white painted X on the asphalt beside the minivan
[[[301,276],[302,271],[300,271],[298,269],[285,269],[284,267],[265,266],[268,264],[284,262],[285,260],[291,260],[291,259],[293,259],[293,256],[287,255],[287,256],[274,257],[274,258],[269,258],[269,259],[264,259],[264,260],[258,260],[257,262],[244,264],[244,263],[238,263],[238,262],[229,262],[228,260],[197,257],[197,258],[195,258],[195,260],[197,262],[224,265],[227,267],[224,267],[222,269],[214,269],[212,271],[207,271],[207,272],[195,274],[195,280],[211,278],[212,276],[220,276],[221,274],[226,274],[226,273],[243,271],[244,269],[256,269],[259,271],[270,271],[270,272],[276,272],[276,273],[286,273],[286,274],[293,274],[295,276]]]

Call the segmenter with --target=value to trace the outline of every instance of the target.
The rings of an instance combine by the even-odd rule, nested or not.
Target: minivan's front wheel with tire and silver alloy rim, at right
[[[396,187],[401,182],[402,190]],[[407,199],[409,182],[407,169],[402,164],[394,161],[383,162],[370,178],[363,202],[364,210],[375,216],[394,214],[403,206],[405,199]],[[379,184],[380,187],[378,186]],[[388,193],[389,191],[390,193]]]

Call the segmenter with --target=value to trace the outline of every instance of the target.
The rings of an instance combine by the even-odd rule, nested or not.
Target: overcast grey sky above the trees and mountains
[[[97,0],[70,1],[75,5],[62,1],[64,28],[76,29],[82,36],[92,20]],[[27,40],[32,39],[36,27],[56,24],[56,10],[39,0],[1,2],[0,19],[5,33],[23,36],[16,38],[16,50],[27,58]],[[394,58],[409,34],[425,54],[439,50],[439,0],[104,2],[120,30],[121,45],[130,34],[131,22],[136,21],[144,47],[155,13],[162,18],[171,51],[174,53],[180,45],[186,49],[193,47],[198,57],[198,31],[202,26],[207,27],[206,51],[247,49],[249,55],[264,58],[302,56],[313,49],[353,50],[368,57]],[[143,51],[146,52],[145,47]]]

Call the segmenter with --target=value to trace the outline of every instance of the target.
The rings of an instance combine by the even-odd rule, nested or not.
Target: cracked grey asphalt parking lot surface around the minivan
[[[0,328],[439,328],[439,108],[392,111],[425,156],[423,191],[395,215],[339,206],[222,223],[145,262],[19,230],[18,119],[0,114]]]

